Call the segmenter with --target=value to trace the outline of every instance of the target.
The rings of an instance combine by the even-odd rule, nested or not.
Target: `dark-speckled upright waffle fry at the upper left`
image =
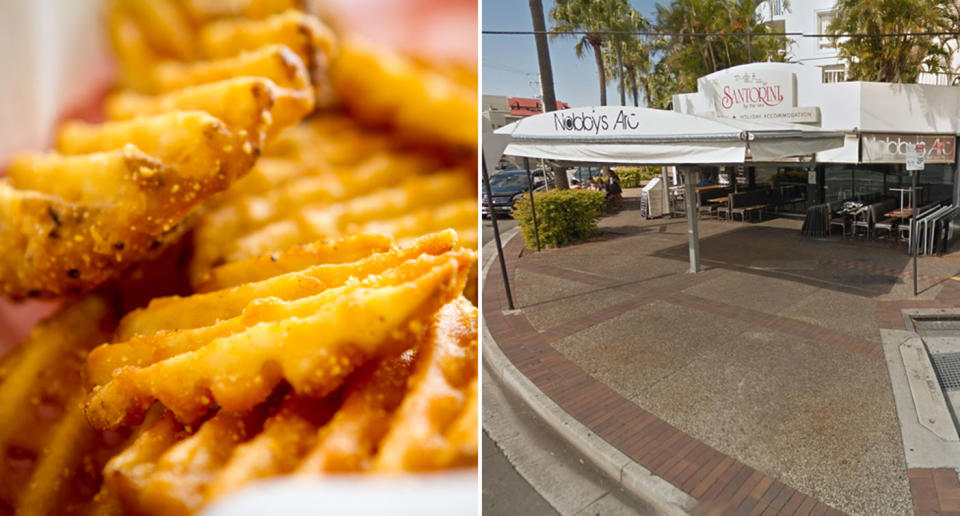
[[[276,25],[251,23],[248,31],[263,26],[264,34]],[[231,67],[288,87],[267,76],[205,82]],[[8,297],[87,291],[156,256],[202,201],[250,170],[268,138],[314,108],[302,61],[276,44],[166,77],[186,86],[157,97],[114,95],[106,107],[114,121],[67,123],[59,154],[13,160],[0,183],[0,284]]]

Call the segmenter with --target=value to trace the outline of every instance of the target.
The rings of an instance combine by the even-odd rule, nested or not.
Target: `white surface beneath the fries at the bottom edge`
[[[282,478],[253,484],[203,516],[475,515],[475,472],[390,476]]]

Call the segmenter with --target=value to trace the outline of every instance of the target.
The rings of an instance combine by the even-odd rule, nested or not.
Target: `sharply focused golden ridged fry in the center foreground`
[[[314,303],[319,306],[309,316],[298,309],[315,299],[258,306],[268,320],[288,318],[256,324],[147,367],[122,368],[94,388],[87,419],[96,428],[115,428],[140,420],[159,400],[180,421],[192,422],[214,403],[222,410],[249,410],[283,379],[299,394],[326,395],[365,361],[419,338],[437,308],[462,292],[475,255],[444,256],[449,258],[439,265],[424,257],[402,274],[370,276],[324,291],[319,295],[324,302]]]

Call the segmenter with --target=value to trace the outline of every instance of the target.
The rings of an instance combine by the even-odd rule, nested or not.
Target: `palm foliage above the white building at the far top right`
[[[834,42],[855,81],[916,82],[923,71],[936,73],[947,52],[935,36],[905,33],[944,30],[949,0],[837,0],[831,34],[898,34],[890,37],[838,37]],[[949,29],[947,29],[949,30]]]

